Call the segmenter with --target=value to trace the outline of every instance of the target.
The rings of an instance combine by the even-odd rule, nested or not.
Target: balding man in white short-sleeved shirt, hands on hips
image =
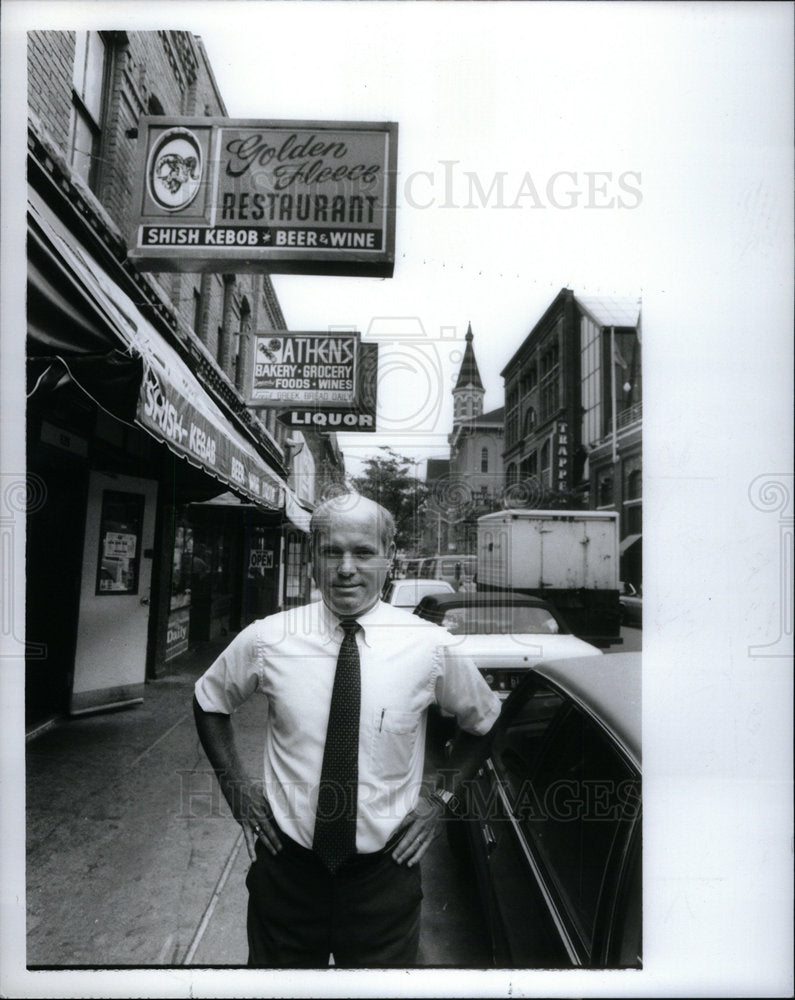
[[[474,772],[500,701],[446,630],[381,602],[394,521],[346,494],[312,516],[322,601],[244,629],[197,681],[196,724],[252,866],[249,965],[408,967],[419,861],[453,785]],[[231,715],[268,699],[262,781],[245,773]],[[464,731],[422,794],[430,705]]]

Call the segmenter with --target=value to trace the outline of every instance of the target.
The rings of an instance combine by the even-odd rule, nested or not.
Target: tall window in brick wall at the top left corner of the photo
[[[99,174],[106,62],[105,41],[98,31],[75,32],[69,164],[92,190]]]

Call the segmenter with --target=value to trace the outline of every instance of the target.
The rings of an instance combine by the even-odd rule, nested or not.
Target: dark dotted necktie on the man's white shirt
[[[359,649],[357,621],[342,621],[345,637],[337,657],[326,747],[320,773],[312,848],[333,874],[356,853],[356,793],[359,784]]]

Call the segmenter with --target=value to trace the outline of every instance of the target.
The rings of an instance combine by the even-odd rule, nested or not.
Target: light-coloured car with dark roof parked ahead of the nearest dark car
[[[455,649],[471,656],[489,687],[506,698],[542,659],[595,656],[596,646],[572,635],[548,601],[524,594],[434,594],[414,614],[459,637]]]

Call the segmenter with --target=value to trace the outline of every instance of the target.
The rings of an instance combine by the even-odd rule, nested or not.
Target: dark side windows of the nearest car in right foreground
[[[578,705],[543,684],[495,741],[495,767],[544,880],[590,954],[597,910],[637,814],[639,783]]]

